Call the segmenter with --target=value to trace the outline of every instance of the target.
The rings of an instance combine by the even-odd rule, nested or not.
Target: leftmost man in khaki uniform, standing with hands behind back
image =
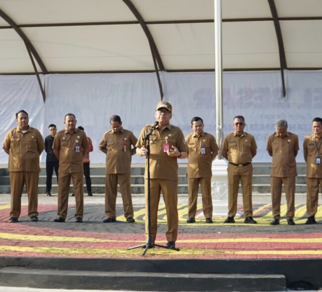
[[[24,110],[16,113],[16,123],[18,126],[8,131],[3,142],[3,150],[9,154],[11,203],[8,222],[18,222],[24,185],[28,194],[28,216],[31,221],[38,221],[39,155],[45,148],[44,139],[37,129],[29,126],[28,113]]]

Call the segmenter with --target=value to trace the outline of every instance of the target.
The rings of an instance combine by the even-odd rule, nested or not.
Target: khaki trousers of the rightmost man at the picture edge
[[[306,178],[306,210],[308,216],[315,216],[318,211],[319,185],[322,188],[322,178]]]

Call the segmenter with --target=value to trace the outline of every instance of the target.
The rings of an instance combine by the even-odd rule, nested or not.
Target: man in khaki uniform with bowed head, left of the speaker
[[[126,222],[135,222],[131,196],[131,160],[135,154],[137,139],[131,131],[122,127],[121,118],[113,115],[109,119],[111,130],[107,131],[99,145],[106,154],[105,168],[105,223],[116,222],[117,182],[123,200]],[[134,146],[133,148],[131,146]]]

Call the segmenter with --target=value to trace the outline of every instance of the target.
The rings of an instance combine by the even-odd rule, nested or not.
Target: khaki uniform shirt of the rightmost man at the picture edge
[[[318,151],[318,147],[320,149]],[[306,176],[308,178],[322,178],[322,164],[316,164],[316,157],[320,156],[322,159],[322,137],[316,141],[314,134],[305,136],[303,142],[304,159],[306,161]]]

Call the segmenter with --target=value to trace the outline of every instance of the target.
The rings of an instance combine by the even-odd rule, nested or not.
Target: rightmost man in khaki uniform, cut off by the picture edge
[[[305,136],[303,143],[306,161],[306,208],[308,220],[305,224],[316,224],[315,214],[318,211],[319,185],[322,188],[322,118],[312,121],[312,134]]]

